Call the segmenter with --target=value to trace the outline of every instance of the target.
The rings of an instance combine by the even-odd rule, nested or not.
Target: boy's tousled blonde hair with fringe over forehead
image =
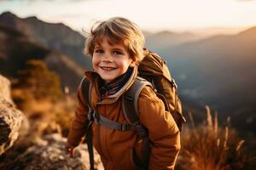
[[[91,27],[84,43],[84,53],[92,56],[94,48],[97,44],[101,44],[104,38],[107,38],[110,45],[123,44],[131,59],[136,63],[143,59],[145,38],[143,32],[131,20],[113,17],[109,20],[97,22]]]

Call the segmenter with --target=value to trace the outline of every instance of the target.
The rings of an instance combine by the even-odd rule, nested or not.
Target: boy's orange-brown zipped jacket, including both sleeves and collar
[[[92,82],[91,105],[94,111],[114,122],[128,124],[123,115],[120,96],[131,87],[137,76],[137,67],[134,67],[130,80],[116,94],[102,100],[99,98],[98,84],[95,72],[85,71],[85,77]],[[81,86],[78,89],[78,105],[76,116],[68,134],[68,143],[77,146],[85,133],[87,122],[88,104],[82,93]],[[143,88],[138,99],[138,111],[140,122],[148,129],[151,141],[151,154],[149,169],[174,169],[177,154],[180,150],[180,133],[170,113],[165,111],[164,103],[154,94],[150,87]],[[105,169],[139,169],[132,160],[132,149],[135,148],[137,156],[143,159],[142,139],[136,131],[120,132],[99,126],[96,122],[92,125],[93,144],[100,154]]]

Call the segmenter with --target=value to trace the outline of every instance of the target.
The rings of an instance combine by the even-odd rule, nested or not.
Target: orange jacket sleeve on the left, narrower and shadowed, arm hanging
[[[85,80],[88,81],[88,80]],[[67,142],[73,146],[79,145],[82,142],[84,134],[86,133],[87,127],[87,114],[89,111],[88,108],[88,99],[84,97],[82,83],[80,83],[77,90],[77,106],[75,110],[75,116],[71,127],[69,129]]]

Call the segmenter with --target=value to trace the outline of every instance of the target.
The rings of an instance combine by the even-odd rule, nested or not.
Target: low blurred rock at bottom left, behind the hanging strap
[[[38,144],[34,144],[17,156],[15,161],[6,165],[3,170],[86,170],[90,169],[90,160],[86,144],[80,144],[71,158],[64,145],[67,139],[59,133],[44,135]],[[100,156],[95,152],[95,167],[103,169]]]

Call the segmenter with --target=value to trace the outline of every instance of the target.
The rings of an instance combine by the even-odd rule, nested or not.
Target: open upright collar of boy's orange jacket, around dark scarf
[[[100,92],[99,92],[99,80],[100,80],[100,76],[96,73],[96,71],[84,71],[84,76],[88,78],[88,80],[93,83],[93,88],[95,88],[96,90],[96,94],[97,94],[97,105],[106,105],[106,104],[112,104],[114,102],[116,102],[119,97],[124,94],[132,85],[132,83],[135,81],[136,77],[137,77],[137,65],[135,65],[134,67],[132,67],[132,73],[131,73],[131,77],[129,77],[129,80],[125,83],[125,85],[119,89],[119,91],[113,95],[109,95],[106,98],[103,98],[102,101],[100,101]]]

